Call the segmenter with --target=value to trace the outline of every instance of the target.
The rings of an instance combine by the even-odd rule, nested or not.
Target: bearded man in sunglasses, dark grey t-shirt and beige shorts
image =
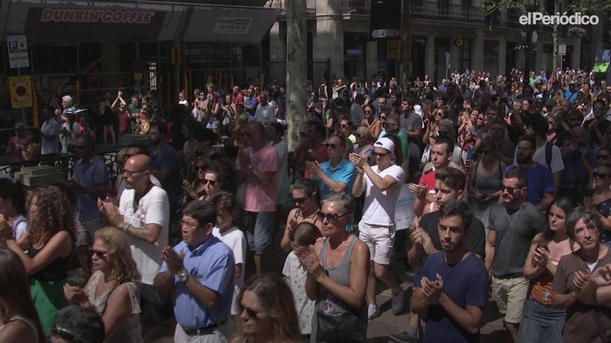
[[[532,139],[521,140],[520,144],[529,145],[529,140]],[[534,143],[530,148],[523,146],[522,150],[529,151],[521,150],[518,154],[532,156],[533,146]],[[547,178],[552,182],[551,172],[542,165],[539,167],[550,174]],[[503,202],[490,208],[486,239],[486,268],[492,274],[492,294],[497,299],[499,312],[505,315],[503,322],[513,341],[529,289],[529,281],[524,278],[524,262],[530,242],[545,222],[545,216],[525,197],[530,194],[530,175],[523,169],[513,168],[505,174],[501,187]]]

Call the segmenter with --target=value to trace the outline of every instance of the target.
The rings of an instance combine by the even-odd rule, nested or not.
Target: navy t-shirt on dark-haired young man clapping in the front
[[[488,271],[484,262],[470,253],[469,256],[456,265],[445,261],[445,251],[439,251],[428,256],[422,267],[422,277],[437,280],[439,273],[444,279],[445,294],[461,308],[488,305]],[[420,286],[420,278],[414,280],[414,287]],[[428,306],[426,318],[426,333],[423,343],[478,343],[480,333],[472,334],[460,327],[439,303]]]

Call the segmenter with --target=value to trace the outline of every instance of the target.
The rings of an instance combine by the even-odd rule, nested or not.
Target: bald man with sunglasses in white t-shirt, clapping
[[[168,245],[170,201],[166,191],[151,182],[152,169],[150,158],[144,154],[128,158],[123,167],[125,190],[119,207],[106,198],[98,199],[98,208],[112,226],[125,232],[142,275],[141,306],[150,306],[155,323],[162,323],[172,309],[167,295],[155,292],[153,281],[163,262],[161,250]]]

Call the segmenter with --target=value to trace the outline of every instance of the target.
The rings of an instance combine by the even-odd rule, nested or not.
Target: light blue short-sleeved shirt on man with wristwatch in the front
[[[191,275],[189,277],[194,278],[202,286],[218,293],[221,297],[215,308],[207,308],[191,295],[178,275],[174,275],[176,321],[184,328],[196,329],[227,320],[231,313],[233,284],[235,283],[235,262],[232,250],[214,236],[210,236],[196,248],[189,247],[183,240],[172,249],[179,254],[180,251],[185,250],[183,265]],[[163,262],[159,273],[166,271],[167,263]]]

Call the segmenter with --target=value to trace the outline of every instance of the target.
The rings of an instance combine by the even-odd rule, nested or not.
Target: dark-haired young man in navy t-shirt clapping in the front
[[[414,280],[411,311],[427,311],[422,342],[480,342],[488,305],[488,270],[464,245],[472,215],[469,205],[449,200],[439,209],[443,251],[426,258]],[[446,282],[447,281],[447,282]]]

